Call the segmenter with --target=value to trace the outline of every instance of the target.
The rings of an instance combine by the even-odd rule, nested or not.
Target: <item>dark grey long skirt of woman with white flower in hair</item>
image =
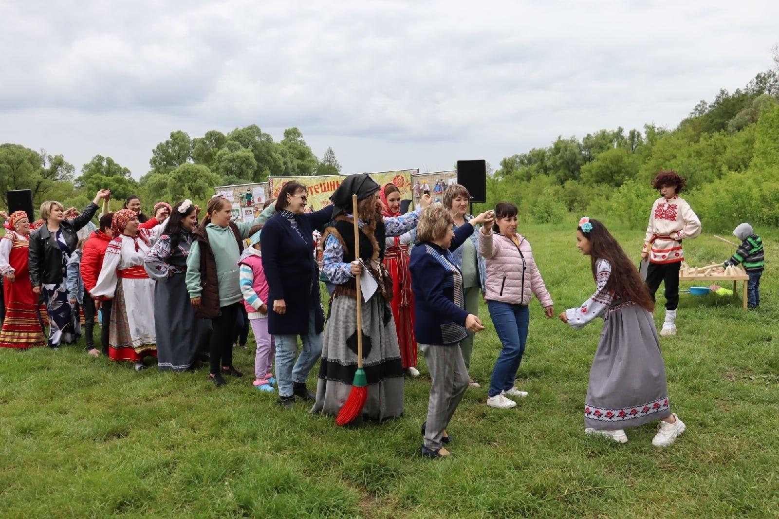
[[[198,319],[189,302],[185,273],[173,274],[154,286],[154,328],[157,369],[184,371],[208,351],[211,321]]]

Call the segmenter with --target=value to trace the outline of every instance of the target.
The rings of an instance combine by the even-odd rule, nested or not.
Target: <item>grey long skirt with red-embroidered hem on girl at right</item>
[[[592,429],[628,429],[671,416],[650,312],[636,304],[608,310],[584,403],[584,425]]]

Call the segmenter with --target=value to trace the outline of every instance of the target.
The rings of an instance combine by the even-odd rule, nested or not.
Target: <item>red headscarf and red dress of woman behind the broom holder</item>
[[[385,217],[399,217],[400,213],[392,213],[389,209],[382,186],[381,196],[384,204],[382,214]],[[400,347],[400,362],[403,369],[417,366],[417,341],[414,339],[414,294],[411,292],[411,270],[408,263],[411,256],[408,254],[408,245],[411,243],[409,231],[401,236],[386,238],[386,250],[384,252],[384,267],[390,271],[393,284],[392,315],[397,330],[397,341]]]

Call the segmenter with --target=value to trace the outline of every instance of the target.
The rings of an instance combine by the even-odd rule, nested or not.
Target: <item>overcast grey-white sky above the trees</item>
[[[344,173],[673,128],[774,64],[779,2],[0,0],[0,143],[138,178],[182,129],[297,126]]]

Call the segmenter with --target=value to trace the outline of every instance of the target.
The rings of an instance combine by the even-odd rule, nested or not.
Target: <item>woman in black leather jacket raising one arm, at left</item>
[[[76,232],[92,219],[100,200],[109,195],[108,189],[97,192],[84,212],[72,220],[64,219],[62,203],[48,200],[41,205],[45,223],[30,237],[30,281],[33,292],[43,291],[46,296],[51,348],[59,348],[62,342],[72,343],[80,335],[78,316],[68,301],[65,266],[79,241]]]

